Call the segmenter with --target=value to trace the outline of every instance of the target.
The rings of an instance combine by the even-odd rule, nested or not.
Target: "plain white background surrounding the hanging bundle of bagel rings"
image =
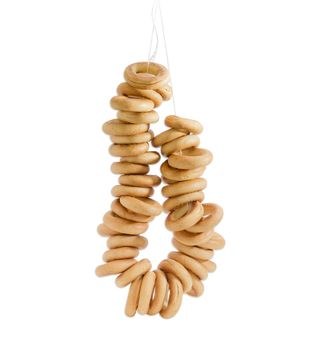
[[[312,1],[162,3],[177,113],[204,125],[227,241],[171,320],[128,319],[127,289],[94,275],[117,182],[101,125],[147,59],[152,1],[0,4],[1,349],[312,349]],[[172,104],[159,113],[156,132]],[[141,254],[154,267],[164,218]]]

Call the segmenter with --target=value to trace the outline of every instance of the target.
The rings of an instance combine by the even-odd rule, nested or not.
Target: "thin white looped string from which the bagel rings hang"
[[[170,74],[170,84],[171,84],[171,88],[172,88],[172,101],[173,101],[174,115],[176,115],[176,104],[175,104],[174,89],[173,89],[173,82],[172,82],[171,69],[170,69],[170,60],[169,60],[169,55],[168,55],[166,36],[165,36],[165,29],[164,29],[164,21],[163,21],[163,15],[162,15],[162,9],[161,9],[161,2],[160,2],[160,0],[154,0],[153,6],[152,6],[152,10],[151,10],[152,33],[151,33],[150,47],[149,47],[149,54],[148,54],[147,72],[149,71],[150,62],[155,60],[155,58],[157,56],[157,53],[158,53],[158,48],[159,48],[159,35],[158,35],[158,28],[157,28],[157,25],[156,25],[156,19],[157,19],[157,14],[158,13],[160,15],[160,22],[161,22],[162,37],[163,37],[164,48],[165,48],[167,69],[168,69],[169,74]],[[155,38],[155,46],[154,46],[154,50],[152,52],[154,38]]]

